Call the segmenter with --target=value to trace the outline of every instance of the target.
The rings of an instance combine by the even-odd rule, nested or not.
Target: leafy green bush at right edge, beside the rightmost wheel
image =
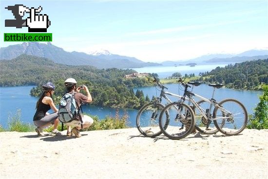
[[[249,116],[249,129],[268,129],[268,84],[262,85],[263,95],[259,96],[260,102],[254,109],[254,115]]]

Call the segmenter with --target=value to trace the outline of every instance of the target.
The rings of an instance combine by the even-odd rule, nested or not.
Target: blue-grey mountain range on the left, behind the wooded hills
[[[24,42],[0,48],[0,60],[11,60],[21,54],[33,55],[67,65],[92,65],[96,68],[139,68],[161,65],[111,53],[89,55],[83,52],[66,52],[52,43]]]

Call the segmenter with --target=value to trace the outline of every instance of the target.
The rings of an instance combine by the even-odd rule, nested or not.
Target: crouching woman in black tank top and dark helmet
[[[55,86],[52,82],[48,82],[42,86],[42,90],[44,91],[41,97],[38,99],[36,104],[36,114],[34,116],[34,124],[38,126],[36,128],[36,132],[38,136],[44,136],[43,128],[54,124],[52,135],[61,135],[61,133],[57,130],[57,125],[59,120],[57,119],[57,107],[55,106],[52,95],[55,90]],[[55,113],[49,114],[48,110],[53,109]]]

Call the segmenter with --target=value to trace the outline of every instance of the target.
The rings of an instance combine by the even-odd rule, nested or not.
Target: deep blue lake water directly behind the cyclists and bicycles
[[[183,91],[178,91],[178,84],[167,84],[168,91],[182,95]],[[35,114],[35,105],[38,98],[30,96],[30,90],[33,86],[18,86],[18,87],[0,87],[0,125],[7,127],[7,119],[9,116],[14,116],[18,109],[21,111],[21,121],[26,123],[32,123],[33,116]],[[134,92],[139,89],[143,90],[144,95],[148,95],[150,98],[158,96],[160,91],[155,87],[141,87],[134,88]],[[211,98],[212,87],[202,84],[195,87],[193,92],[198,93],[206,98]],[[224,98],[235,98],[240,100],[248,110],[249,114],[253,113],[253,108],[259,102],[258,95],[261,95],[261,91],[242,91],[221,88],[215,92],[215,99],[221,100]],[[170,98],[176,100],[174,98]],[[115,116],[116,110],[112,108],[96,107],[90,105],[84,105],[82,107],[85,113],[98,116],[99,119],[104,119],[105,116]],[[119,109],[119,115],[128,113],[129,125],[135,127],[136,114],[138,110],[133,109]]]

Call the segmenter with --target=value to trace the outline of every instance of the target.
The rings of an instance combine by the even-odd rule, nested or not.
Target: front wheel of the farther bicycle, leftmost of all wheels
[[[159,115],[163,108],[163,104],[155,102],[141,107],[136,117],[136,126],[143,136],[153,138],[162,134],[159,128]]]

